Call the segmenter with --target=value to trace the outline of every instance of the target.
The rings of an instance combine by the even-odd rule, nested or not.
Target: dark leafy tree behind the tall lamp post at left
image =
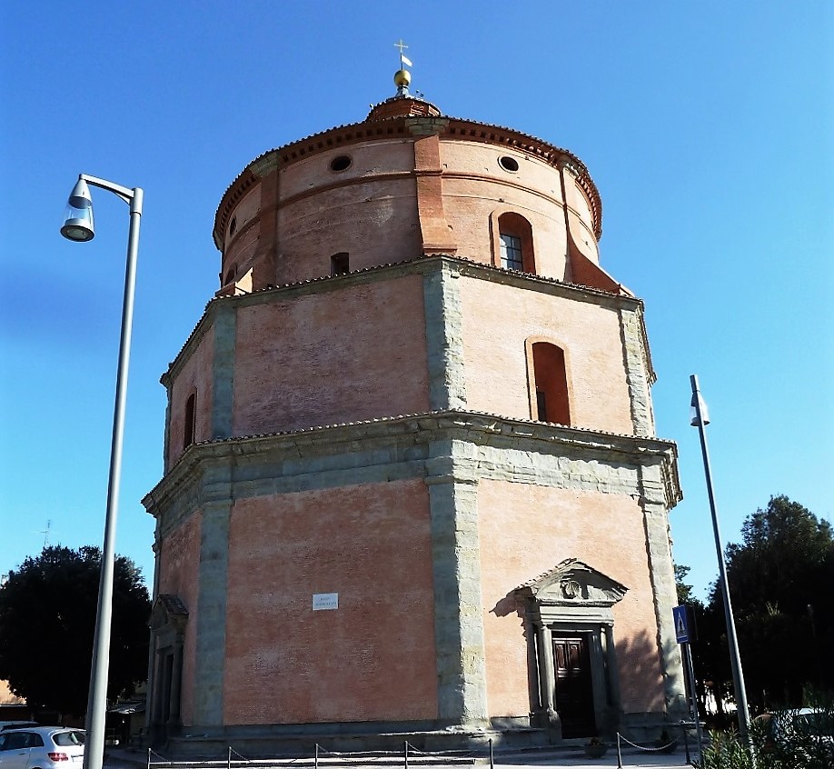
[[[0,587],[0,678],[34,707],[84,714],[101,573],[97,547],[45,547]],[[133,694],[148,664],[150,598],[117,556],[107,695]]]

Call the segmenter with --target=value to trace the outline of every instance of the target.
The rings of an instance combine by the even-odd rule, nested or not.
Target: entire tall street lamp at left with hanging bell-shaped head
[[[141,187],[128,189],[104,179],[79,175],[67,203],[61,235],[84,243],[94,237],[93,200],[87,185],[101,187],[118,195],[130,206],[130,229],[127,236],[127,265],[124,272],[122,302],[122,333],[119,341],[119,365],[116,375],[113,438],[110,446],[110,476],[107,485],[107,512],[104,518],[102,572],[98,584],[98,606],[95,614],[93,662],[90,670],[90,691],[87,699],[87,730],[84,747],[84,769],[101,769],[104,762],[104,721],[107,711],[107,674],[110,664],[110,625],[113,618],[113,581],[115,565],[115,528],[119,507],[119,483],[122,475],[122,443],[124,437],[124,404],[127,393],[127,370],[130,363],[130,338],[134,317],[136,255],[139,247],[139,222],[142,217]]]

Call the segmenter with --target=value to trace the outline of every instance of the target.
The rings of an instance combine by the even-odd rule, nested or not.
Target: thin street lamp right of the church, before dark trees
[[[739,641],[736,637],[736,623],[730,603],[730,585],[727,583],[727,565],[724,563],[724,551],[721,549],[718,512],[715,509],[715,496],[712,493],[712,473],[710,471],[710,453],[707,450],[707,434],[704,428],[710,424],[710,415],[698,389],[698,376],[691,375],[692,414],[690,424],[698,428],[700,450],[704,458],[704,475],[707,479],[707,494],[710,497],[712,514],[712,532],[715,535],[715,552],[719,562],[719,584],[724,598],[724,622],[727,624],[727,642],[730,644],[730,666],[732,667],[732,685],[736,693],[736,707],[739,716],[739,733],[744,744],[750,746],[750,711],[747,707],[747,692],[744,689],[744,674],[741,670]]]

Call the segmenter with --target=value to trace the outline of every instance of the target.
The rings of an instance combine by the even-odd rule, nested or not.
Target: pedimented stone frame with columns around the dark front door
[[[515,589],[524,607],[531,725],[550,728],[561,739],[552,639],[562,632],[587,636],[596,729],[599,734],[616,730],[621,699],[612,606],[627,592],[624,585],[575,558]]]

